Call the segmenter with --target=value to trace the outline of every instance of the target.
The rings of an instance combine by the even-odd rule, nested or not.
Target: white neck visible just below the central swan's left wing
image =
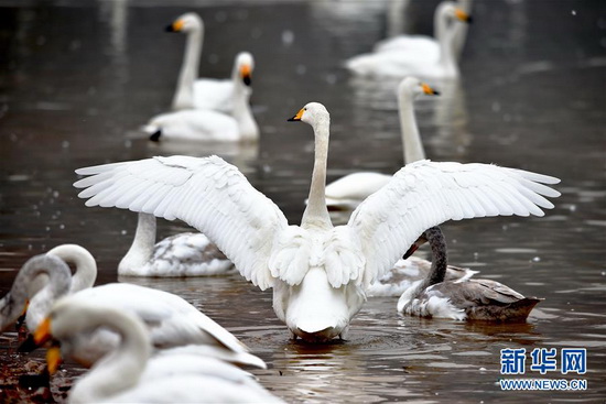
[[[127,254],[118,264],[118,271],[141,267],[151,259],[155,244],[155,227],[153,215],[139,214],[134,239]]]

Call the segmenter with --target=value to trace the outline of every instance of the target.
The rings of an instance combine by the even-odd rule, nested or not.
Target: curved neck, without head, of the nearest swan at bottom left
[[[118,310],[112,310],[110,316],[104,312],[88,312],[78,323],[89,328],[110,328],[120,335],[120,346],[95,363],[74,385],[69,402],[96,403],[137,385],[151,353],[150,337],[144,326]]]

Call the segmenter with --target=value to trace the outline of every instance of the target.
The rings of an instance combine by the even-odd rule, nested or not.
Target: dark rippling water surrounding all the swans
[[[313,138],[307,125],[285,120],[312,100],[332,114],[328,179],[402,165],[396,84],[353,79],[340,66],[393,30],[431,33],[434,1],[412,1],[399,25],[385,1],[166,3],[0,2],[0,295],[29,256],[64,242],[94,253],[98,283],[116,281],[136,215],[85,208],[72,187],[77,167],[217,153],[299,223]],[[562,197],[544,218],[444,225],[450,259],[544,302],[527,324],[487,325],[403,317],[396,298],[370,298],[347,341],[310,346],[290,341],[271,294],[237,275],[138,282],[183,296],[241,338],[269,365],[253,373],[288,402],[606,398],[606,3],[474,6],[461,81],[432,83],[443,95],[418,102],[426,154],[554,175]],[[229,75],[241,50],[256,57],[252,102],[262,138],[253,150],[159,146],[138,132],[170,106],[184,37],[163,28],[191,10],[206,24],[203,76]],[[184,230],[162,222],[160,236]],[[14,339],[0,339],[3,367],[26,361],[8,349]],[[583,379],[587,390],[501,391],[505,348],[586,348],[584,375],[562,375],[560,365],[541,375],[529,357],[526,374],[512,378]],[[14,389],[8,383],[0,382],[3,392]]]

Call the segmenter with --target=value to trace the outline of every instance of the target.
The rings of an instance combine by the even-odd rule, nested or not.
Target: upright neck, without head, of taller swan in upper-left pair
[[[185,55],[183,56],[176,92],[173,98],[173,110],[175,111],[194,108],[194,81],[197,78],[199,68],[203,37],[204,28],[187,32]]]

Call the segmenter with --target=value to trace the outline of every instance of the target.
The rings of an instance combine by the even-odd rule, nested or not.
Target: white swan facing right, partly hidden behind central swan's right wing
[[[398,86],[398,113],[404,153],[404,164],[425,159],[423,143],[414,118],[414,99],[420,95],[439,92],[414,77],[407,77]],[[369,195],[382,188],[391,175],[359,172],[348,174],[326,186],[326,205],[332,208],[353,209]]]

